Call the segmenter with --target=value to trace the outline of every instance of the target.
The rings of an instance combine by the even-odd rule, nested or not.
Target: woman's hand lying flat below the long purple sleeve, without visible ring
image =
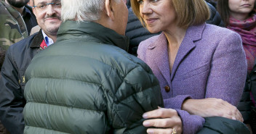
[[[222,99],[187,99],[183,103],[182,110],[201,117],[226,117],[244,122],[236,106]]]

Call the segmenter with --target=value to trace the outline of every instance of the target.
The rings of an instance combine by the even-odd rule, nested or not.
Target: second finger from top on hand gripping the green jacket
[[[181,122],[178,118],[164,118],[164,119],[152,119],[152,120],[145,120],[143,125],[145,127],[174,127],[180,126],[179,122]]]

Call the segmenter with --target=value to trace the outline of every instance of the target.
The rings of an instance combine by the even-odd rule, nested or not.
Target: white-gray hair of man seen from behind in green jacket
[[[119,1],[119,0],[116,0]],[[61,18],[66,20],[94,21],[100,19],[105,0],[62,0]]]

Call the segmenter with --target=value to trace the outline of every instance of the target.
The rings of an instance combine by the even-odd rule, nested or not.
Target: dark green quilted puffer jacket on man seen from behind
[[[26,70],[24,133],[146,133],[159,82],[128,40],[95,22],[64,22]]]

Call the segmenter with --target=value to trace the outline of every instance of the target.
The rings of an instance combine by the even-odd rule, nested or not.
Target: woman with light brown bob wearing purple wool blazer
[[[239,34],[208,25],[204,0],[132,0],[132,9],[151,33],[137,54],[159,80],[165,110],[143,114],[148,133],[196,133],[203,117],[243,121],[236,105],[241,98],[247,64]],[[182,132],[172,120],[176,109]],[[191,114],[194,115],[191,117]]]

